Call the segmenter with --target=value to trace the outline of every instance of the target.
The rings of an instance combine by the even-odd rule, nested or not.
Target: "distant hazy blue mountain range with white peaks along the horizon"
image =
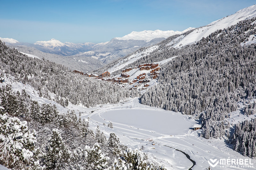
[[[184,33],[192,28],[184,31],[141,31],[129,33],[123,37],[116,37],[104,43],[71,43],[61,42],[55,39],[49,41],[37,41],[34,44],[22,43],[14,39],[0,38],[7,45],[22,47],[33,47],[45,53],[72,56],[77,61],[87,62],[88,57],[99,60],[103,64],[110,63],[111,61],[124,57],[141,47],[147,47],[156,44],[167,37],[175,34]],[[34,51],[34,50],[33,50]],[[33,54],[34,55],[34,54]]]

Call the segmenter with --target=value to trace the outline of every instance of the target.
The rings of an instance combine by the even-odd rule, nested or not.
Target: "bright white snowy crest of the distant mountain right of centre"
[[[133,31],[123,37],[116,37],[117,40],[146,40],[146,41],[150,41],[153,40],[154,38],[160,38],[160,37],[164,37],[164,38],[168,38],[169,36],[172,35],[176,35],[176,34],[182,34],[185,33],[191,29],[194,28],[187,28],[184,31],[173,31],[173,30],[169,30],[169,31],[161,31],[161,30],[155,30],[155,31],[151,31],[151,30],[144,30],[141,32],[136,32]]]

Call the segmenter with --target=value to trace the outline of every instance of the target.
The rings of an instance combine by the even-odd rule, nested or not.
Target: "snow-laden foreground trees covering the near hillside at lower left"
[[[15,81],[15,80],[14,80]],[[74,110],[60,113],[55,105],[32,100],[26,90],[0,87],[0,163],[12,169],[164,170],[138,149],[120,144]],[[112,124],[108,125],[113,128]]]

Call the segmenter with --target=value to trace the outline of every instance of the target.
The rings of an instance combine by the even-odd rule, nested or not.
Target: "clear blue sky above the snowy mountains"
[[[0,0],[0,37],[106,42],[132,31],[200,27],[255,0]]]

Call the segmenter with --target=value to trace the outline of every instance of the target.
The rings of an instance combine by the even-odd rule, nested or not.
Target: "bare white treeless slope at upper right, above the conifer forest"
[[[195,29],[192,33],[186,35],[180,41],[178,41],[178,43],[174,44],[173,47],[182,47],[184,45],[200,41],[202,37],[207,37],[219,29],[227,28],[228,26],[237,24],[239,21],[252,17],[256,17],[256,5],[249,6],[237,11],[233,15],[214,21],[207,26]]]

